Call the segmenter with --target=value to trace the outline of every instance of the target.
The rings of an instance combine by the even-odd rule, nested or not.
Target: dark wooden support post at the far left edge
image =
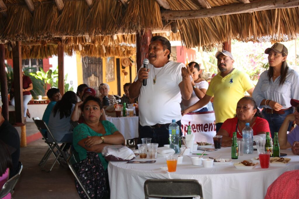
[[[2,115],[8,120],[8,93],[7,93],[7,78],[5,72],[5,48],[4,44],[0,44],[0,84],[1,84],[1,100],[2,100]]]

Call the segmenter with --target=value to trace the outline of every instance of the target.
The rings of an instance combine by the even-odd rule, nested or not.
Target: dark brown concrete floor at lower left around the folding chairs
[[[51,172],[42,171],[38,166],[48,146],[42,139],[21,148],[20,161],[23,170],[12,195],[14,199],[74,198],[80,199],[74,183],[74,176],[68,167],[55,164]],[[48,159],[48,170],[54,162],[54,156]]]

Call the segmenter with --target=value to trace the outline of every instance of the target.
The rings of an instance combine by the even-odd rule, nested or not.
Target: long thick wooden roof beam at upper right
[[[299,0],[265,0],[248,4],[231,4],[211,9],[200,10],[162,10],[161,18],[165,20],[201,19],[205,17],[223,16],[239,13],[251,13],[262,10],[298,7]]]

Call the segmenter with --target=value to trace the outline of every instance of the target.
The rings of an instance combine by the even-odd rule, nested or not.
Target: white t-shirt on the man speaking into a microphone
[[[147,85],[141,86],[138,97],[141,126],[167,124],[171,123],[171,120],[181,120],[179,83],[182,81],[182,67],[185,67],[183,63],[173,61],[168,62],[164,67],[155,69],[152,64],[148,65]],[[155,74],[157,79],[154,85]],[[137,80],[138,76],[134,81]]]

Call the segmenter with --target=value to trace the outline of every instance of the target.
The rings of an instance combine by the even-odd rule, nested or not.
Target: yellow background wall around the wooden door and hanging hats
[[[115,57],[114,59],[114,75],[115,75],[115,80],[112,82],[107,82],[106,81],[106,58],[103,58],[103,83],[107,83],[110,87],[110,92],[109,94],[112,95],[117,95],[117,76],[116,76],[116,59],[118,57]],[[135,56],[131,57],[131,59],[134,61],[133,65],[132,65],[132,82],[134,82],[134,79],[136,77],[136,58]],[[81,56],[77,55],[77,77],[78,77],[78,85],[83,84],[83,69],[82,69],[82,61],[81,61]],[[121,60],[121,58],[120,58]],[[124,75],[122,70],[125,70],[126,72],[128,72],[128,75]],[[123,96],[124,92],[123,92],[123,85],[125,83],[130,82],[130,74],[129,74],[129,66],[126,67],[125,69],[122,69],[122,67],[120,66],[120,90],[121,90],[121,95],[120,97]]]

